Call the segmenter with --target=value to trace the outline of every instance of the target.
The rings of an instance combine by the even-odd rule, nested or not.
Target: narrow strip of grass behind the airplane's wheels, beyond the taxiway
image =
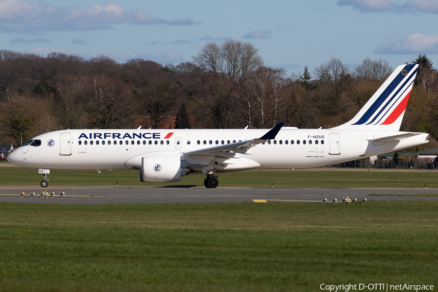
[[[438,188],[436,171],[294,171],[248,170],[218,174],[219,187],[341,187],[341,188]],[[179,183],[143,183],[135,170],[51,170],[50,186],[202,186],[205,176],[183,176]],[[37,169],[0,167],[0,185],[39,185]]]

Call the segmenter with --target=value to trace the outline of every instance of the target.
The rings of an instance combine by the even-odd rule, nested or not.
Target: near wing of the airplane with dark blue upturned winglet
[[[260,138],[185,152],[183,156],[193,155],[193,156],[214,157],[218,155],[218,156],[230,158],[230,155],[227,153],[252,154],[252,152],[249,150],[251,147],[254,147],[260,143],[267,142],[268,140],[275,139],[275,136],[280,131],[281,127],[283,127],[283,125],[284,123],[279,123],[277,126],[270,129],[266,134],[264,134]]]

